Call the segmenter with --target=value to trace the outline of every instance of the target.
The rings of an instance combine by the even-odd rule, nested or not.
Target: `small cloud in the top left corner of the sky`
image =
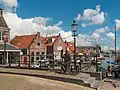
[[[18,7],[17,0],[0,0],[0,2],[4,6],[5,11],[13,12]]]

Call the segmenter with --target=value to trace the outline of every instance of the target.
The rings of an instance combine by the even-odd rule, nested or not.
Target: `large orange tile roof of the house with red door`
[[[36,37],[36,34],[24,35],[24,36],[15,36],[11,40],[11,44],[15,45],[16,47],[18,47],[20,49],[28,48],[35,37]]]

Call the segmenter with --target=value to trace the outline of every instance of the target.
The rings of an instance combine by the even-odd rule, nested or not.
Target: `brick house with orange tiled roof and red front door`
[[[37,63],[41,59],[41,55],[46,54],[46,46],[40,33],[33,35],[15,36],[11,40],[11,44],[15,45],[23,52],[21,62],[28,65]]]

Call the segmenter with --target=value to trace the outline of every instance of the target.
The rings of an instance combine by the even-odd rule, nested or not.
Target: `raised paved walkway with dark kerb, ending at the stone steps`
[[[96,86],[96,83],[93,83],[95,79],[90,77],[90,75],[86,73],[80,73],[77,75],[68,75],[68,74],[51,72],[50,70],[45,71],[45,70],[15,69],[15,68],[0,68],[0,73],[36,76],[39,78],[42,77],[51,80],[74,83],[74,84],[82,85],[84,87],[91,87],[91,85]],[[93,89],[93,87],[91,88]]]

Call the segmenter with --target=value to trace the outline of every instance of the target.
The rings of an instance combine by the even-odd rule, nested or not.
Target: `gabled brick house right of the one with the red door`
[[[46,54],[54,55],[54,59],[61,59],[61,50],[65,52],[66,49],[65,43],[60,34],[56,36],[45,37],[45,45],[47,48]]]

